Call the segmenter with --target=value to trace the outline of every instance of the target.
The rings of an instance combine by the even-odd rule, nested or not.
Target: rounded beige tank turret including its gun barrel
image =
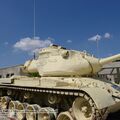
[[[120,54],[99,59],[86,52],[52,45],[40,50],[38,59],[27,61],[24,68],[41,76],[83,76],[95,74],[103,65],[118,59]]]

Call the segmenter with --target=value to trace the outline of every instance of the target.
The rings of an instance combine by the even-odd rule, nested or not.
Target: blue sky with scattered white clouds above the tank
[[[34,0],[0,0],[0,67],[51,43],[100,58],[120,53],[120,0],[35,0],[35,37],[33,23]]]

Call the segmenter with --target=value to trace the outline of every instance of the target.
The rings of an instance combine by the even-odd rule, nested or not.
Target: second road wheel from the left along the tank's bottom
[[[17,112],[17,106],[19,104],[19,101],[11,101],[9,103],[9,113],[8,113],[8,117],[9,118],[16,118],[16,112]]]

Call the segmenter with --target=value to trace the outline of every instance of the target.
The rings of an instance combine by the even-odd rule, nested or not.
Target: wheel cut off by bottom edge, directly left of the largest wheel
[[[66,112],[61,112],[58,117],[57,120],[74,120],[71,116],[71,114],[66,111]]]

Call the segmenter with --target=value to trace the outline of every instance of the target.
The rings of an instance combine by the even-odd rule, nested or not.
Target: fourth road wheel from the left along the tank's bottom
[[[36,120],[37,113],[40,111],[40,106],[37,104],[28,105],[26,109],[26,119],[27,120]]]

